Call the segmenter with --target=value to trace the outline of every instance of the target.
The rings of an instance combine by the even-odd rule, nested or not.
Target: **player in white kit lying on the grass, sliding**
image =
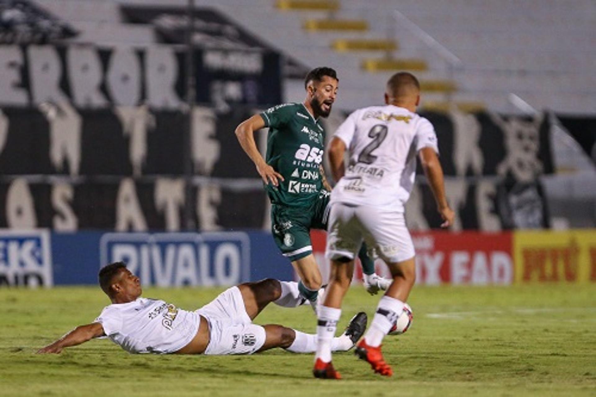
[[[282,296],[282,283],[291,284],[285,281],[267,278],[231,287],[197,311],[185,311],[163,300],[141,297],[139,278],[123,262],[102,268],[99,282],[112,304],[104,308],[95,322],[76,327],[38,353],[60,353],[63,348],[103,336],[131,353],[227,355],[271,348],[295,353],[316,350],[316,335],[283,325],[252,324],[270,302],[287,303],[293,299]],[[355,315],[342,336],[334,338],[333,349],[351,349],[366,325],[364,312]]]

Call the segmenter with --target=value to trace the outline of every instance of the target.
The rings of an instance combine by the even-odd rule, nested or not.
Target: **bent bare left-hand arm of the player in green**
[[[254,131],[264,127],[265,121],[263,117],[259,116],[259,114],[254,114],[250,119],[244,120],[236,127],[235,134],[238,142],[240,142],[240,146],[249,155],[250,159],[253,160],[263,182],[266,184],[271,182],[274,186],[277,186],[278,179],[283,181],[284,177],[265,162],[265,159],[259,153],[259,149],[257,149],[256,142],[254,142]]]

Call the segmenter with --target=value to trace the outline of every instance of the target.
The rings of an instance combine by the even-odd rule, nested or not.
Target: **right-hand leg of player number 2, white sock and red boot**
[[[388,266],[393,283],[379,301],[373,322],[355,351],[359,358],[367,361],[376,373],[383,376],[392,376],[393,370],[383,358],[381,342],[401,314],[416,278],[414,258],[388,263]]]

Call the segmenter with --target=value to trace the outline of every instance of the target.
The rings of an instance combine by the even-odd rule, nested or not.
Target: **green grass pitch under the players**
[[[185,309],[215,289],[146,289]],[[361,287],[344,303],[344,327],[378,297]],[[131,355],[92,340],[60,355],[36,349],[108,304],[97,287],[0,289],[1,396],[594,396],[596,286],[415,287],[414,324],[387,337],[395,374],[383,378],[352,352],[334,355],[341,381],[313,379],[313,356],[282,350],[253,356]],[[310,307],[271,305],[255,321],[315,330]]]

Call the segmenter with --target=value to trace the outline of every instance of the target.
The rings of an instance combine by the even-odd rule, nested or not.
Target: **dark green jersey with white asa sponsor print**
[[[284,176],[278,187],[266,185],[272,204],[308,207],[324,189],[319,166],[325,130],[302,103],[288,103],[260,113],[269,127],[268,165]]]

